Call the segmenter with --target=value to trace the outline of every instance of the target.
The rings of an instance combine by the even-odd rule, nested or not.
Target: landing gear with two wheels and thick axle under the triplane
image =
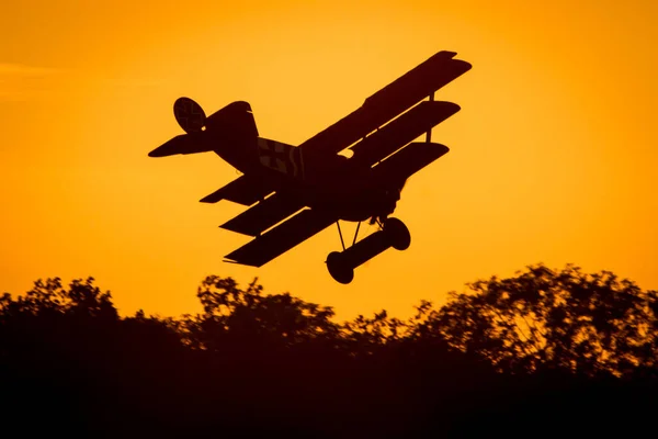
[[[379,224],[381,229],[361,239],[359,243],[356,243],[358,226],[352,246],[345,249],[340,224],[337,222],[343,251],[332,251],[327,257],[327,269],[337,282],[343,284],[352,282],[356,267],[379,255],[387,248],[393,247],[396,250],[406,250],[409,248],[411,235],[405,223],[397,218],[387,218],[383,224],[379,222],[377,224]]]

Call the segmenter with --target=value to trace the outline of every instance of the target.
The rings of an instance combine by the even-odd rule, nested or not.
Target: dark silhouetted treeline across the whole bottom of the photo
[[[404,294],[405,292],[400,292]],[[2,431],[66,437],[653,434],[658,293],[538,264],[337,323],[208,277],[203,312],[122,317],[93,279],[0,299]]]

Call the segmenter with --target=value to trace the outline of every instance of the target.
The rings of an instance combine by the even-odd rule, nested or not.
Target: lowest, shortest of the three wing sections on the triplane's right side
[[[450,149],[441,144],[417,142],[407,145],[373,168],[373,175],[381,181],[405,181]]]

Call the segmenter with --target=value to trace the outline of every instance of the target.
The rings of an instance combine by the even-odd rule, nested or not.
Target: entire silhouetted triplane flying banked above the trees
[[[389,215],[407,179],[449,151],[431,142],[431,131],[460,111],[434,100],[436,90],[472,67],[455,55],[439,52],[299,146],[260,137],[247,102],[206,117],[196,102],[180,98],[173,113],[185,134],[149,156],[214,151],[242,172],[201,200],[250,206],[220,226],[254,237],[228,254],[228,262],[261,267],[336,223],[343,250],[330,252],[326,262],[334,280],[350,283],[356,267],[411,243],[407,226]],[[426,142],[413,142],[423,134]],[[339,154],[345,149],[350,158]],[[359,223],[347,249],[340,219]],[[379,229],[356,243],[361,222],[368,219]]]

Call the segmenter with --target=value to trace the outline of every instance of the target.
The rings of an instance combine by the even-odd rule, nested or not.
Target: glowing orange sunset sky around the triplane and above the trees
[[[658,288],[658,3],[257,3],[3,5],[0,291],[93,275],[122,313],[178,315],[206,274],[258,275],[351,318],[540,261]],[[398,203],[409,250],[350,285],[324,263],[334,227],[261,269],[222,262],[248,238],[218,225],[243,207],[197,201],[236,171],[147,157],[181,133],[181,95],[249,101],[262,136],[299,144],[442,49],[474,66],[436,95],[462,106],[432,137],[451,151]]]

